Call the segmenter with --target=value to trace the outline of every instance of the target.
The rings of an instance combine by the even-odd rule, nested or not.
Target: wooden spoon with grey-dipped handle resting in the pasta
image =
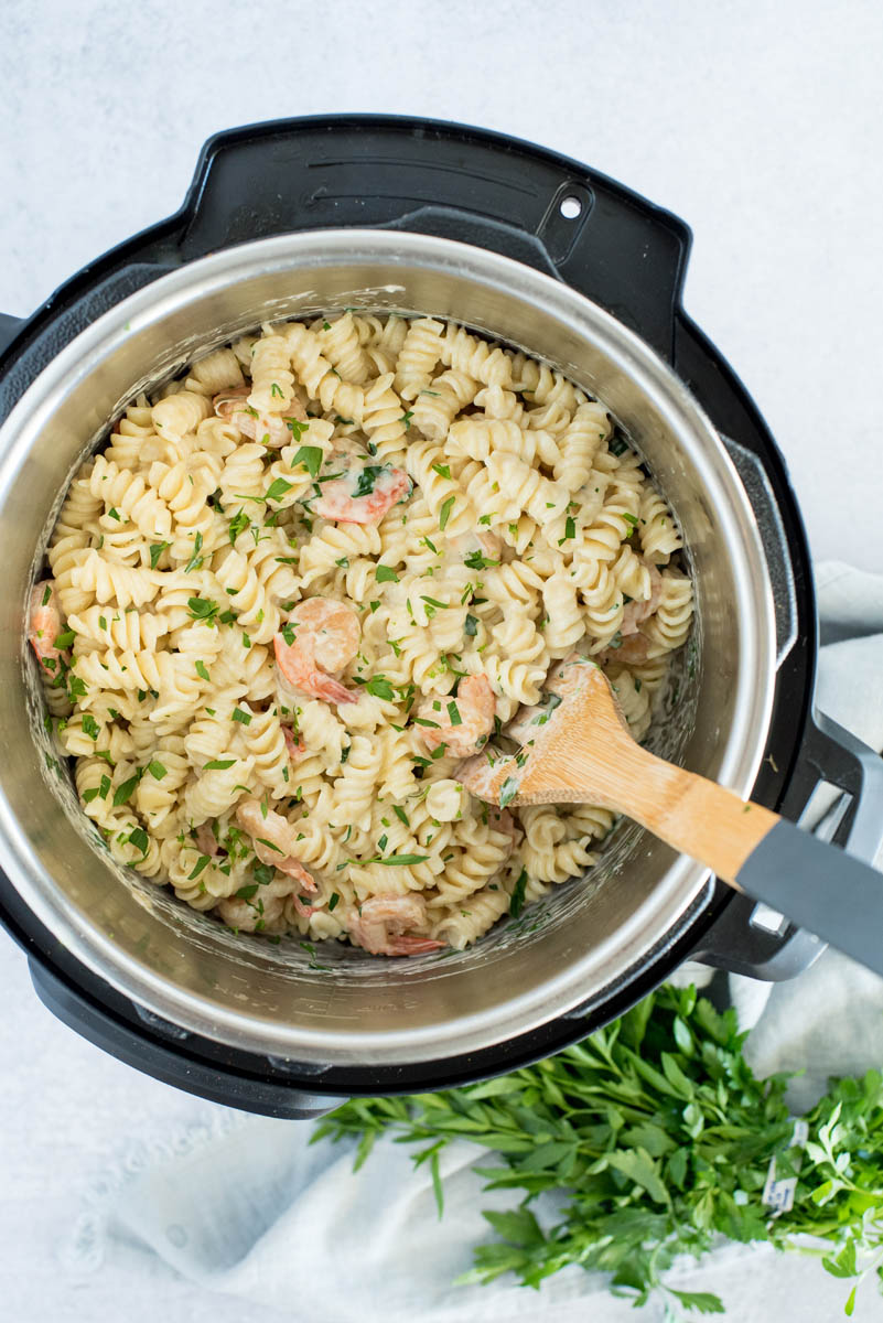
[[[559,705],[529,726],[531,738],[518,754],[494,758],[485,750],[461,763],[457,777],[473,795],[502,807],[588,803],[625,814],[736,890],[883,974],[882,873],[763,804],[648,753],[594,662],[563,664],[553,692]]]

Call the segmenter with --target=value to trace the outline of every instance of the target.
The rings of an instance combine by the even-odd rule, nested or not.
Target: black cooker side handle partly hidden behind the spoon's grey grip
[[[883,844],[883,758],[822,712],[814,712],[788,791],[790,815],[804,818],[822,786],[843,791],[816,831],[866,864]],[[880,877],[883,886],[883,876]],[[794,978],[825,950],[813,933],[748,896],[734,896],[689,954],[730,974],[779,982]]]

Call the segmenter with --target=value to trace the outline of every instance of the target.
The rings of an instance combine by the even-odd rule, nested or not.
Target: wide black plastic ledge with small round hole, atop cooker
[[[390,226],[564,280],[673,356],[690,230],[578,161],[463,124],[278,119],[210,138],[180,218],[185,261],[291,230]]]

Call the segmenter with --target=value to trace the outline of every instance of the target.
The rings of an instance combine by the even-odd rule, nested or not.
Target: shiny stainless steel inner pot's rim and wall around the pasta
[[[475,1052],[599,1003],[685,931],[709,898],[706,869],[632,828],[587,881],[557,888],[464,953],[395,962],[234,937],[96,852],[66,773],[49,766],[24,644],[28,586],[63,488],[120,406],[262,321],[344,307],[464,321],[546,359],[611,409],[674,507],[697,583],[699,667],[683,689],[691,729],[675,704],[668,747],[682,745],[686,766],[743,794],[769,724],[775,620],[746,492],[690,392],[601,308],[493,253],[378,230],[262,239],[156,280],[41,373],[0,429],[9,880],[73,955],[181,1028],[289,1060],[393,1065]]]

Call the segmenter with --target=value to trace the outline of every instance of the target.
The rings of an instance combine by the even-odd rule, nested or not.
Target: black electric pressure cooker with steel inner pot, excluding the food
[[[687,958],[780,979],[818,954],[814,937],[629,823],[586,881],[467,951],[385,960],[235,935],[96,851],[25,646],[63,488],[139,389],[262,321],[344,307],[452,318],[597,394],[678,515],[697,634],[657,746],[792,820],[837,787],[829,831],[872,860],[883,763],[814,710],[800,512],[751,397],[681,306],[689,247],[677,217],[506,136],[280,120],[210,139],[176,216],[28,320],[0,319],[0,919],[59,1019],[211,1101],[309,1117],[547,1056]]]

